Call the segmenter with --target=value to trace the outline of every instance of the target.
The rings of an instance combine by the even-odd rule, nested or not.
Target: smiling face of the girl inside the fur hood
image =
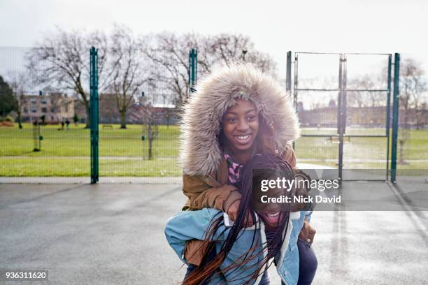
[[[249,152],[259,131],[259,117],[251,101],[237,99],[222,117],[223,133],[232,152]]]

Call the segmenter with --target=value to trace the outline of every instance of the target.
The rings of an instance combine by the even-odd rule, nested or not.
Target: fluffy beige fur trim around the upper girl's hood
[[[249,64],[219,68],[200,80],[196,89],[185,105],[180,124],[180,163],[187,175],[217,171],[222,159],[217,142],[221,119],[236,98],[255,103],[273,130],[279,153],[299,138],[299,121],[290,96],[273,78]]]

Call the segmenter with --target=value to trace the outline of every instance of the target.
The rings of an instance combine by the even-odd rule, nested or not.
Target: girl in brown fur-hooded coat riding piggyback
[[[271,154],[296,167],[291,142],[300,129],[290,98],[275,80],[250,65],[220,68],[201,80],[185,105],[181,129],[183,193],[188,198],[183,210],[212,208],[235,221],[242,198],[241,169],[247,161]],[[309,217],[300,235],[310,247],[315,231]],[[245,224],[252,226],[250,215]],[[187,242],[187,263],[201,263],[201,248],[200,241]]]

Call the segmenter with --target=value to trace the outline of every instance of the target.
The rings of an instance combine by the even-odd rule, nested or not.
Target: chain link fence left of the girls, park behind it
[[[37,54],[0,48],[0,76],[20,104],[20,114],[10,113],[0,126],[1,180],[89,182],[87,104],[73,90],[36,85],[40,74],[30,65]],[[181,176],[176,90],[163,66],[150,59],[143,64],[144,80],[133,92],[99,92],[100,182],[176,182],[173,177]],[[85,88],[88,83],[83,81]],[[187,96],[183,83],[180,92]]]

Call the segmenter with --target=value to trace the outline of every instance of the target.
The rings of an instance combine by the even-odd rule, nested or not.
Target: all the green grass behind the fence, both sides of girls
[[[42,126],[40,152],[33,152],[33,126],[24,129],[0,127],[0,176],[88,176],[90,175],[90,131],[84,125]],[[99,127],[101,176],[180,176],[178,158],[178,126],[159,126],[153,152],[148,160],[148,140],[141,140],[143,127],[128,125],[120,129]],[[303,129],[304,134],[334,134],[335,129]],[[347,129],[350,134],[377,135],[383,129]],[[345,168],[386,167],[385,138],[350,138],[343,147]],[[298,162],[335,167],[338,143],[329,138],[302,137],[295,144]],[[411,130],[410,140],[403,150],[405,163],[399,169],[428,168],[428,131]]]

